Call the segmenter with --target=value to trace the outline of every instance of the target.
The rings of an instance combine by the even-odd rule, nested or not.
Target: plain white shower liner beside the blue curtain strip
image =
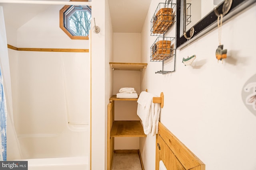
[[[6,98],[5,106],[7,109],[7,160],[20,159],[20,147],[13,123],[11,76],[2,6],[0,6],[0,69],[2,72],[3,89]],[[5,154],[4,159],[6,159],[6,150],[3,150]]]

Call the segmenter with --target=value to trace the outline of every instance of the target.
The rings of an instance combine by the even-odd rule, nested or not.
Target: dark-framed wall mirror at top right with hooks
[[[214,8],[219,14],[222,14],[224,2],[225,0],[177,0],[176,49],[182,49],[186,46],[187,39],[184,37],[184,33],[186,33],[187,37],[190,37],[190,29],[192,27],[194,28],[194,35],[191,37],[190,43],[217,27],[218,17],[214,12]],[[223,22],[254,2],[256,0],[233,0],[230,10],[223,17]]]

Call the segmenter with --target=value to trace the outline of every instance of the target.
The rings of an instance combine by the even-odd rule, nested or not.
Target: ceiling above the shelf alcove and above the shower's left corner
[[[151,0],[108,0],[113,31],[123,33],[140,33],[148,13],[150,3]],[[0,3],[0,6],[3,6],[4,9],[6,25],[10,25],[17,29],[40,12],[49,8],[50,5]],[[18,18],[16,16],[18,16]]]

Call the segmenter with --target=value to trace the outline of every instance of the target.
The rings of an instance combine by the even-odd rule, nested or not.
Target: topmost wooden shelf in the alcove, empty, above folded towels
[[[113,70],[137,70],[146,68],[148,63],[109,63]]]

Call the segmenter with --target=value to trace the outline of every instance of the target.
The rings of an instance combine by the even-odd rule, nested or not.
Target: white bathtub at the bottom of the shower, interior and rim
[[[88,127],[67,128],[60,134],[20,135],[22,159],[28,170],[88,170]]]

